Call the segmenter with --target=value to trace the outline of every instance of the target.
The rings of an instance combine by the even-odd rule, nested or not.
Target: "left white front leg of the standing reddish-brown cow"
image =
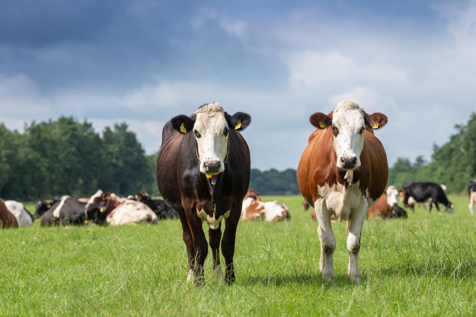
[[[322,271],[322,278],[326,281],[334,278],[332,256],[336,250],[336,237],[334,237],[334,232],[332,232],[331,215],[327,210],[324,200],[322,198],[318,199],[314,206],[316,207],[317,222],[319,222],[317,234],[321,242],[319,269]]]

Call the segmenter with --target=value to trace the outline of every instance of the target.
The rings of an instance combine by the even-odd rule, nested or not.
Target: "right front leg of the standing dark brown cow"
[[[221,240],[221,253],[225,258],[225,283],[231,285],[235,282],[235,267],[233,265],[233,256],[235,255],[235,238],[237,233],[238,221],[241,215],[241,203],[239,206],[233,204],[230,216],[225,220],[225,231]]]

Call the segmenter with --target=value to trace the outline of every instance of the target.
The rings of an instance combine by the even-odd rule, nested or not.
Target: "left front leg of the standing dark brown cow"
[[[202,221],[198,218],[195,207],[186,209],[185,214],[187,215],[188,226],[190,227],[193,237],[195,283],[200,285],[205,282],[203,265],[208,255],[208,243],[207,239],[205,239],[205,233],[203,232]]]

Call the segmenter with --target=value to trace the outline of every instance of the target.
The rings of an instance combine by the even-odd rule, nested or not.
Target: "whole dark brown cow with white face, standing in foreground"
[[[204,281],[208,245],[202,221],[207,221],[209,227],[213,272],[221,275],[218,248],[222,220],[226,224],[221,240],[225,282],[235,281],[235,236],[250,175],[249,149],[239,131],[250,122],[248,114],[228,115],[216,103],[199,107],[191,116],[178,115],[164,126],[157,184],[182,222],[188,281]]]

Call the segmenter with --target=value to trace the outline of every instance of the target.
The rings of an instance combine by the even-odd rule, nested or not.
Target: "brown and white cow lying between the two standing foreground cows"
[[[276,222],[280,220],[290,220],[288,206],[278,201],[262,202],[257,199],[248,197],[243,200],[241,207],[242,221],[249,220],[266,220],[268,222]]]

